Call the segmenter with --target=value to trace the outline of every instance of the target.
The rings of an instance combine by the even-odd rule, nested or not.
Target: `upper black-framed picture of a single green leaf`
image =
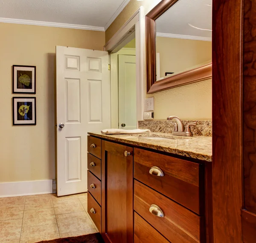
[[[35,66],[12,66],[12,93],[35,94]]]

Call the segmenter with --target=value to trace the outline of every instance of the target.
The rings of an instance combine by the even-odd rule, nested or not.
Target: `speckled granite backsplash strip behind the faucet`
[[[172,121],[175,122],[175,121]],[[184,126],[189,122],[197,122],[197,125],[190,126],[191,131],[194,136],[212,136],[212,121],[211,120],[183,120]],[[172,133],[173,125],[169,124],[169,121],[155,121],[155,120],[145,120],[139,121],[140,129],[149,129],[151,132],[156,133]]]

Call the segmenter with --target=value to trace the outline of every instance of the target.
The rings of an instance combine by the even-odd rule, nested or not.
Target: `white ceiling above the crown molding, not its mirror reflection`
[[[96,26],[101,27],[97,30],[104,31],[128,2],[129,0],[0,0],[0,22],[8,22],[5,18],[35,20]]]

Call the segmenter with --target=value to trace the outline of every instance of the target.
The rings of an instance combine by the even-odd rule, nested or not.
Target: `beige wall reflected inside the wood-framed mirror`
[[[156,52],[160,53],[160,77],[212,62],[211,41],[157,37]]]

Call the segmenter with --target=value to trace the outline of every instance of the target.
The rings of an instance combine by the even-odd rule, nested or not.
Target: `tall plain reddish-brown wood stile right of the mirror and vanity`
[[[212,1],[212,193],[215,243],[241,242],[242,0]]]

